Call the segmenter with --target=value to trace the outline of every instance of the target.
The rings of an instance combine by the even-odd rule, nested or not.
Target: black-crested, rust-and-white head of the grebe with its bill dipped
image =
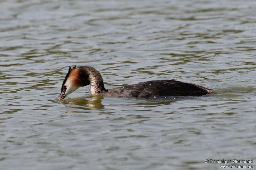
[[[81,67],[69,67],[65,80],[62,83],[61,92],[58,99],[64,99],[70,93],[82,86],[90,84],[89,76]]]

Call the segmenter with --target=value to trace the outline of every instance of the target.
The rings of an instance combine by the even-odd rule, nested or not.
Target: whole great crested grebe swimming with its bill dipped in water
[[[207,89],[196,84],[175,80],[155,80],[133,84],[114,89],[105,89],[100,72],[90,66],[69,67],[62,83],[58,99],[64,99],[79,87],[91,84],[91,95],[113,97],[153,97],[153,96],[202,96],[212,94]]]

